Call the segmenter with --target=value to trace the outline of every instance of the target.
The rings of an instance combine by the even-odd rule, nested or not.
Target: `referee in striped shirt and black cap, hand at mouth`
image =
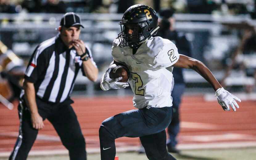
[[[70,159],[86,159],[85,139],[70,106],[73,101],[69,94],[80,68],[94,82],[98,69],[90,49],[79,39],[80,27],[84,28],[77,14],[64,14],[58,28],[60,33],[39,44],[32,54],[18,106],[19,136],[9,159],[27,159],[46,118],[68,149]]]

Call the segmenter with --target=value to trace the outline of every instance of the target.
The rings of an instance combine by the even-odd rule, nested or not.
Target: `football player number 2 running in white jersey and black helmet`
[[[109,72],[102,76],[101,89],[131,86],[133,105],[129,110],[105,119],[99,129],[101,159],[114,160],[115,139],[139,137],[150,160],[175,159],[167,152],[165,128],[173,114],[171,90],[173,67],[191,68],[204,77],[215,90],[215,96],[224,110],[239,108],[239,98],[222,88],[211,71],[200,61],[178,53],[174,43],[161,37],[152,37],[159,29],[158,16],[146,5],[134,5],[126,10],[120,21],[121,33],[113,42],[114,63],[129,69],[128,82],[111,79]]]

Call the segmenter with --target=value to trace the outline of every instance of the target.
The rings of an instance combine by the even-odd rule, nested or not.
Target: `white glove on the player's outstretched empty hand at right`
[[[222,106],[223,110],[228,111],[230,110],[229,105],[232,107],[234,111],[236,111],[235,106],[239,108],[235,100],[241,102],[239,98],[229,93],[229,91],[225,90],[223,87],[216,90],[215,97],[217,97],[217,100],[219,104]]]

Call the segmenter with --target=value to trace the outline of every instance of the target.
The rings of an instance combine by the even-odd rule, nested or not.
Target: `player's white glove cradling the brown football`
[[[123,79],[122,77],[118,77],[116,79],[109,78],[110,68],[103,74],[101,78],[101,89],[106,91],[109,89],[119,89],[119,88],[126,88],[129,86],[127,82],[118,82],[119,80]]]

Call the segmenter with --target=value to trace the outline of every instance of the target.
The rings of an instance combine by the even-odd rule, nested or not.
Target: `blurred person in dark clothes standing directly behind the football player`
[[[159,22],[160,29],[157,36],[171,40],[178,48],[179,54],[191,57],[190,43],[183,33],[178,33],[175,30],[175,18],[173,14],[174,11],[171,9],[161,10],[159,12],[162,20]],[[172,74],[174,78],[174,87],[171,92],[171,97],[173,98],[173,118],[168,126],[169,139],[167,140],[167,150],[168,152],[178,153],[179,150],[176,149],[176,144],[178,143],[176,137],[180,132],[179,106],[185,90],[185,82],[182,68],[174,68]]]

